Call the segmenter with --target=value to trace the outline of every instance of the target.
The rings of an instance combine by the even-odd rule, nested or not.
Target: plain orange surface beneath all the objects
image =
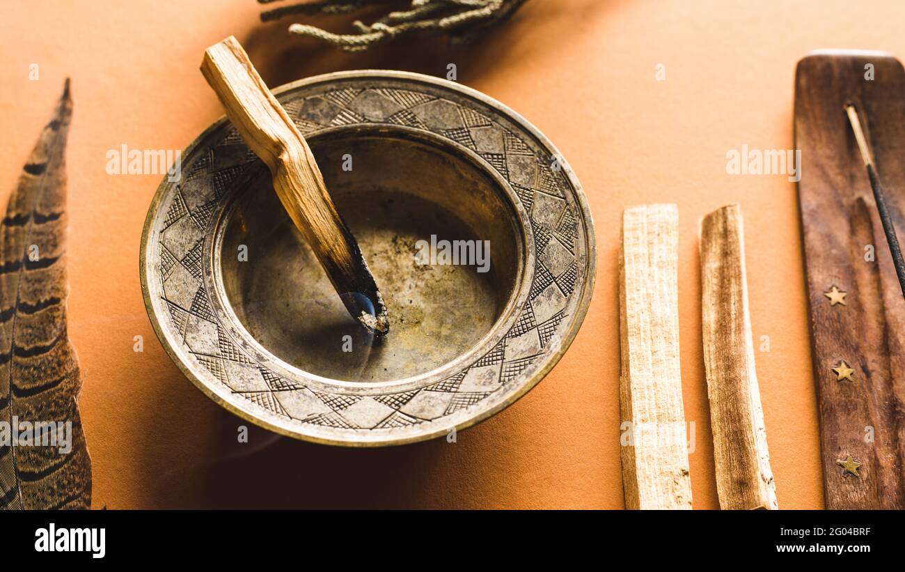
[[[622,210],[679,205],[681,361],[695,424],[694,508],[717,508],[700,346],[697,221],[742,205],[757,372],[780,508],[823,507],[795,186],[729,176],[731,148],[793,147],[795,62],[815,48],[905,52],[899,0],[530,0],[468,47],[426,41],[347,54],[261,24],[253,0],[4,2],[0,199],[71,76],[70,335],[95,508],[624,506],[619,461],[618,252]],[[317,18],[344,29],[348,18]],[[584,326],[537,388],[445,440],[346,450],[251,427],[195,389],[160,347],[138,283],[141,227],[160,176],[109,176],[108,149],[185,148],[222,114],[198,71],[234,34],[275,87],[326,71],[388,68],[459,81],[534,123],[585,187],[597,285]],[[39,81],[29,81],[37,63]],[[666,81],[655,67],[666,66]],[[144,351],[133,351],[135,336]]]

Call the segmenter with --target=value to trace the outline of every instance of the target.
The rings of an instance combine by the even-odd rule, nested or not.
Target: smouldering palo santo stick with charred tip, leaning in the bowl
[[[355,237],[339,218],[311,150],[233,36],[205,51],[205,79],[333,282],[349,313],[376,336],[389,331],[386,306]],[[302,292],[299,295],[303,295]]]

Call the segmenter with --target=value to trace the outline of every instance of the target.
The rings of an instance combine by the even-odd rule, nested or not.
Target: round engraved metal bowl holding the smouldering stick
[[[221,119],[161,183],[142,235],[148,315],[176,366],[252,423],[352,446],[448,434],[535,386],[595,277],[591,215],[556,148],[491,98],[420,74],[338,72],[274,93],[384,294],[390,334],[375,341],[348,317],[270,173]],[[442,241],[471,250],[423,263]]]

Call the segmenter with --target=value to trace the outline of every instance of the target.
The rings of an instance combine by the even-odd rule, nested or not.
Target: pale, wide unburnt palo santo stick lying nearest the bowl
[[[627,509],[691,509],[679,363],[676,205],[623,214],[619,256],[622,464]]]

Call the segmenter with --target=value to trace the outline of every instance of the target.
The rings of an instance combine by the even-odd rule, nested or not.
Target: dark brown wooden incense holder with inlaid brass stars
[[[868,66],[868,67],[866,67]],[[869,79],[868,72],[872,71]],[[905,303],[849,119],[865,119],[891,220],[905,230],[905,71],[878,53],[817,53],[795,73],[795,146],[828,509],[903,509]],[[845,303],[824,295],[836,287]],[[851,367],[850,377],[834,367]],[[840,379],[840,377],[843,377]],[[857,476],[839,462],[860,462]]]

